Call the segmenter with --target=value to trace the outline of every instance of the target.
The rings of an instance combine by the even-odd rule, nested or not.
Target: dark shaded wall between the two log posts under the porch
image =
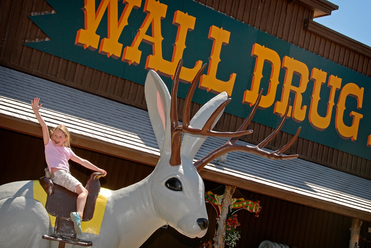
[[[351,226],[351,218],[240,191],[247,199],[260,200],[262,212],[258,218],[248,211],[237,212],[239,220],[244,222],[242,233],[247,234],[242,236],[239,247],[258,247],[263,240],[301,248],[348,247],[350,234],[347,226]]]

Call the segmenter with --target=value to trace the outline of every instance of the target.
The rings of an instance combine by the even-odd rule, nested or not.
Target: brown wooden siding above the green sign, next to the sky
[[[313,19],[313,11],[300,5],[298,1],[196,1],[305,50],[371,76],[370,47],[362,46],[349,38],[344,42],[347,38],[331,29],[326,30],[326,36],[324,33],[303,29],[304,22],[308,23]]]

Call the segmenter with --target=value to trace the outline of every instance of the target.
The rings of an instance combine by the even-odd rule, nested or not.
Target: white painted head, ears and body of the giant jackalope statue
[[[204,184],[192,162],[206,137],[185,134],[181,165],[170,166],[170,93],[152,70],[148,72],[145,82],[145,97],[160,148],[160,161],[147,178],[126,188],[110,191],[99,235],[78,235],[78,238],[92,241],[93,247],[139,247],[164,224],[192,238],[206,234],[207,229],[201,230],[196,222],[198,218],[207,219]],[[202,128],[226,99],[226,93],[214,97],[198,111],[191,125]],[[170,178],[178,178],[183,191],[168,189],[165,182]],[[57,242],[42,239],[42,235],[53,233],[53,228],[45,208],[33,199],[32,191],[32,181],[0,186],[2,247],[58,247]],[[71,246],[66,244],[66,247]]]

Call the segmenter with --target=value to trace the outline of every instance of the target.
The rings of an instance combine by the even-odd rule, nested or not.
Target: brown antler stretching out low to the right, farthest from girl
[[[259,96],[255,102],[255,105],[253,106],[253,109],[251,110],[249,116],[247,116],[246,120],[242,123],[238,131],[244,130],[250,123],[251,119],[253,118],[255,111],[257,109],[257,106],[259,105],[260,98],[262,97],[262,92],[263,89],[260,90]],[[262,148],[271,140],[273,139],[274,136],[277,135],[279,130],[282,128],[283,123],[285,122],[287,113],[289,111],[289,106],[290,106],[291,99],[289,99],[289,102],[286,107],[286,112],[285,115],[282,117],[281,122],[279,123],[278,127],[271,133],[267,138],[265,138],[262,142],[259,143],[259,145],[256,146],[248,146],[248,145],[237,145],[236,141],[239,138],[239,136],[230,138],[224,145],[220,146],[219,148],[215,149],[214,151],[210,152],[208,155],[206,155],[204,158],[198,160],[197,162],[194,163],[194,166],[196,167],[197,171],[201,171],[201,169],[204,168],[207,163],[211,162],[213,159],[220,157],[223,154],[226,154],[228,152],[233,152],[233,151],[242,151],[242,152],[250,152],[254,153],[260,156],[263,156],[265,158],[270,158],[270,159],[293,159],[297,158],[298,155],[282,155],[281,153],[286,151],[298,138],[301,127],[298,128],[296,131],[295,136],[282,148],[274,151],[274,152],[267,152],[262,150]]]

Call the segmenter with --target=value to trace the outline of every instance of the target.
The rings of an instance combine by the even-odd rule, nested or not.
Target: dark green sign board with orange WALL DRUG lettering
[[[171,87],[183,58],[178,91],[185,97],[203,63],[193,101],[226,91],[225,111],[371,159],[371,78],[192,0],[47,0],[57,13],[30,16],[51,40],[26,46],[144,84],[154,69]]]

